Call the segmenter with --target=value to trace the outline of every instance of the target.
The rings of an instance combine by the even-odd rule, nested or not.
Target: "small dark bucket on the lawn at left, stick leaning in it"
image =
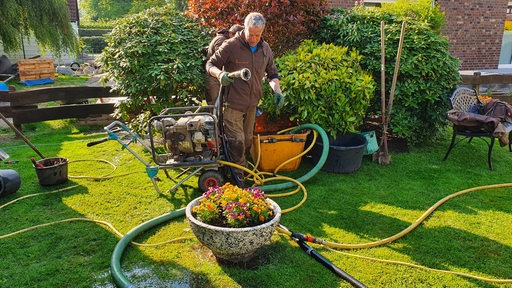
[[[37,179],[42,186],[62,184],[68,181],[68,159],[66,158],[45,158],[37,161],[44,167],[34,167]]]

